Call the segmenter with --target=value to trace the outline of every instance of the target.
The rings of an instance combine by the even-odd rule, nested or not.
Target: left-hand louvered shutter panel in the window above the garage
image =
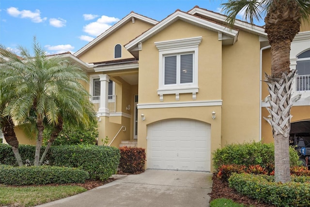
[[[176,84],[176,56],[165,57],[165,85]]]

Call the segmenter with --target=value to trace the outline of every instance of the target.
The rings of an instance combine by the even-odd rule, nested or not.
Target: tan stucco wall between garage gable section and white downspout
[[[234,45],[223,47],[222,147],[259,141],[260,42],[240,31]]]

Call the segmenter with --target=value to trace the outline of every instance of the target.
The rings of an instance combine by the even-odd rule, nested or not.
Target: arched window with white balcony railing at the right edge
[[[310,90],[310,50],[297,56],[296,90]]]

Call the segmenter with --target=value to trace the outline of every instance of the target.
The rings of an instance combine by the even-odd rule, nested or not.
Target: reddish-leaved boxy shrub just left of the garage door
[[[144,172],[145,149],[143,148],[127,148],[120,149],[119,170],[123,173]]]

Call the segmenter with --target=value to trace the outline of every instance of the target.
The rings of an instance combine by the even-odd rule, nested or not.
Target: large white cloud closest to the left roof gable
[[[97,21],[92,22],[83,27],[83,30],[92,36],[98,36],[104,31],[108,30],[112,25],[111,23],[118,22],[119,19],[109,16],[101,16]]]

